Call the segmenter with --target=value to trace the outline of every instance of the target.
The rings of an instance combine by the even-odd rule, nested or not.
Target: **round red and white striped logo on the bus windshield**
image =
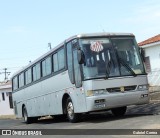
[[[103,46],[100,41],[91,42],[90,49],[94,52],[100,52],[103,50]]]

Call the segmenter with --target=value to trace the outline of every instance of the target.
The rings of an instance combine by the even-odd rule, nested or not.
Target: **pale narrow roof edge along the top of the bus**
[[[84,34],[78,34],[78,35],[74,35],[66,40],[64,40],[62,43],[60,43],[59,45],[57,45],[55,48],[51,49],[49,52],[45,53],[44,55],[42,55],[41,57],[37,58],[36,60],[34,60],[33,62],[29,63],[27,66],[25,66],[24,68],[20,69],[19,71],[15,72],[12,75],[12,78],[14,76],[16,76],[17,74],[19,74],[20,72],[26,70],[27,68],[29,68],[30,66],[34,65],[35,63],[37,63],[38,61],[40,61],[41,59],[45,58],[47,55],[50,55],[51,53],[53,53],[56,49],[60,48],[62,45],[64,45],[65,42],[69,42],[75,38],[87,38],[87,37],[101,37],[101,36],[134,36],[132,33],[84,33]]]

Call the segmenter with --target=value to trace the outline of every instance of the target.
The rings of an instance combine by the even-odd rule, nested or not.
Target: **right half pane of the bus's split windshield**
[[[145,73],[137,42],[134,38],[112,38],[112,44],[120,62],[121,75]]]

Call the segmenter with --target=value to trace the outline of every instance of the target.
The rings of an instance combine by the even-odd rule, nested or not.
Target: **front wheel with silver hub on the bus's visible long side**
[[[66,111],[67,111],[67,118],[71,123],[76,123],[80,121],[81,114],[79,113],[74,113],[74,105],[69,97],[66,102]]]

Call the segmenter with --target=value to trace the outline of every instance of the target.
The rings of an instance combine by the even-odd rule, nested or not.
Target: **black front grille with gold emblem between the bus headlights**
[[[114,88],[107,88],[108,92],[123,92],[123,91],[134,91],[137,85],[133,86],[124,86],[124,87],[114,87]]]

